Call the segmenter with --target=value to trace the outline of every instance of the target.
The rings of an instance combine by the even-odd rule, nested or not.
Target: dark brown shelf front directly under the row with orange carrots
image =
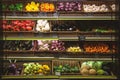
[[[39,57],[66,57],[66,58],[93,58],[93,57],[111,57],[115,56],[116,53],[87,53],[87,52],[66,52],[66,51],[4,51],[4,55],[10,56],[14,55],[19,57],[24,56],[24,55],[29,55],[33,54],[33,57],[39,56]]]

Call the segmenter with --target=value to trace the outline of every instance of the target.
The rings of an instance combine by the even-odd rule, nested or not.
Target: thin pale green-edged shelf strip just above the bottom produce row
[[[4,60],[18,60],[18,61],[39,61],[39,60],[80,60],[80,61],[87,61],[87,60],[93,60],[93,61],[109,61],[109,62],[114,62],[115,61],[115,58],[111,58],[111,57],[108,57],[108,58],[100,58],[100,57],[94,57],[94,58],[85,58],[85,57],[39,57],[39,56],[31,56],[31,57],[28,57],[28,56],[24,56],[24,57],[16,57],[16,56],[8,56],[8,57],[4,57],[3,58]]]

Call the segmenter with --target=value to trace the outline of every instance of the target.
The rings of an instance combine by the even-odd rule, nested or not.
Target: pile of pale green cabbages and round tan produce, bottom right
[[[81,64],[82,75],[110,75],[111,63],[103,61],[85,61]]]

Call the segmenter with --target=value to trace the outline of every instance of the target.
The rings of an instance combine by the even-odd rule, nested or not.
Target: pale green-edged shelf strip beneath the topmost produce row
[[[3,16],[4,20],[38,20],[38,19],[47,19],[47,20],[116,20],[115,16],[45,16],[45,17],[34,17],[34,16]]]

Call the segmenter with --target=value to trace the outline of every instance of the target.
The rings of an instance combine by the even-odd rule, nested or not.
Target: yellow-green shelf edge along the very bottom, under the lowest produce
[[[116,76],[82,76],[82,75],[65,75],[65,76],[2,76],[2,79],[117,79]]]

